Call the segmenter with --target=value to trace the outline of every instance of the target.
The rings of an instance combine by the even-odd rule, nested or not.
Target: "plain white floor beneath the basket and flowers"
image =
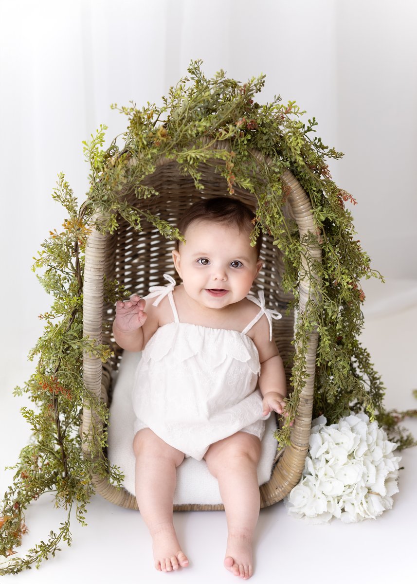
[[[417,354],[417,283],[394,282],[365,286],[366,329],[363,343],[373,356],[376,369],[387,385],[386,404],[398,409],[415,408],[411,391],[417,388],[413,369]],[[33,339],[34,340],[34,339]],[[8,485],[13,464],[27,440],[25,422],[19,413],[23,399],[11,397],[13,385],[22,383],[32,366],[16,360],[6,364],[6,382],[1,393],[0,492]],[[22,377],[23,376],[23,377]],[[408,427],[417,437],[417,420]],[[394,507],[374,521],[310,526],[287,516],[282,503],[262,510],[256,533],[256,566],[252,582],[357,584],[401,582],[414,584],[416,575],[417,481],[416,449],[402,454],[399,493]],[[27,511],[30,533],[25,550],[57,530],[62,512],[41,498]],[[120,509],[96,497],[89,506],[88,527],[72,526],[72,547],[62,546],[57,557],[39,571],[18,576],[19,582],[69,580],[101,582],[234,582],[223,568],[225,517],[223,512],[176,513],[175,522],[183,548],[190,558],[187,569],[164,574],[152,565],[151,544],[137,512]]]

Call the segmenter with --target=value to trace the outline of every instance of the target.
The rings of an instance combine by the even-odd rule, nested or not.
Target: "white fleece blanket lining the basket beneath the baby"
[[[124,351],[114,385],[109,418],[109,461],[123,472],[124,481],[122,484],[133,495],[135,492],[135,457],[132,446],[134,413],[131,406],[131,391],[140,356],[141,353]],[[275,416],[270,416],[266,420],[262,454],[258,464],[259,485],[269,481],[271,475],[277,449],[277,442],[273,437],[275,430]],[[180,464],[177,469],[174,503],[175,505],[217,505],[221,503],[217,480],[211,476],[206,461],[185,458]]]

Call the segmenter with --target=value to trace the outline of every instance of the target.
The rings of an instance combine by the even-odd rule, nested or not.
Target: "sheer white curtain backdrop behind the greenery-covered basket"
[[[416,20],[413,0],[0,0],[2,364],[32,371],[50,300],[30,266],[65,217],[57,173],[82,201],[82,140],[126,128],[110,103],[160,103],[196,58],[207,76],[263,72],[260,101],[279,93],[317,118],[346,154],[331,172],[374,267],[415,282]]]

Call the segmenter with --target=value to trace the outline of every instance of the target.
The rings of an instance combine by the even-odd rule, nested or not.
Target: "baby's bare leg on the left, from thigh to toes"
[[[184,454],[144,428],[134,437],[135,493],[138,507],[152,536],[155,568],[162,572],[187,566],[173,526],[172,506],[176,467]]]

